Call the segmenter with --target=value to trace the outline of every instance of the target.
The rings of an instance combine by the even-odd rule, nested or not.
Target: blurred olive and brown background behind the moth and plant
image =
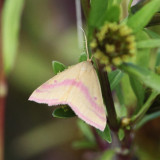
[[[156,28],[159,30],[159,27]],[[43,82],[54,76],[52,61],[77,63],[75,0],[27,0],[14,67],[8,76],[5,113],[5,160],[90,160],[93,150],[76,150],[82,139],[77,118],[56,119],[53,107],[28,101]],[[135,151],[142,160],[160,159],[160,119],[136,133]],[[97,150],[98,151],[98,150]]]

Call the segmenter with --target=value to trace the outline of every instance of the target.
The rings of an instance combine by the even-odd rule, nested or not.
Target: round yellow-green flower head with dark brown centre
[[[110,71],[128,61],[136,52],[135,37],[127,25],[106,23],[90,44],[94,56]]]

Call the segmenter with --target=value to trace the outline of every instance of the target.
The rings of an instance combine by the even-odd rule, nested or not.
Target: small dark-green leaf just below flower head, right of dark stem
[[[111,90],[115,89],[115,87],[118,85],[122,77],[123,73],[119,69],[112,71],[108,74]]]

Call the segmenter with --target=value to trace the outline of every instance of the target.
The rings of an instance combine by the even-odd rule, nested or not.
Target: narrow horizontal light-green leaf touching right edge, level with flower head
[[[137,42],[137,48],[155,48],[160,47],[160,39],[149,39]]]

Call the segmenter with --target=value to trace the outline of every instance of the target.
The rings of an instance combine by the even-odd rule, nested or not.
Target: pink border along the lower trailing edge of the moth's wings
[[[29,98],[30,101],[35,101],[35,102],[38,102],[38,103],[46,103],[46,100],[42,100],[42,99],[38,99],[38,98],[33,98],[33,97],[30,97]],[[105,128],[105,125],[100,125],[100,124],[97,124],[96,122],[93,122],[92,120],[88,119],[86,116],[84,116],[79,110],[78,110],[78,107],[72,105],[71,103],[66,103],[66,102],[59,102],[57,99],[52,99],[52,100],[49,100],[49,106],[52,106],[52,105],[59,105],[59,104],[68,104],[72,109],[73,111],[77,114],[77,116],[81,119],[83,119],[84,121],[86,121],[88,124],[90,124],[91,126],[94,126],[98,129],[100,129],[101,131],[104,130]],[[47,101],[48,103],[48,101]],[[103,121],[106,122],[106,119],[103,118]],[[104,123],[105,124],[105,123]]]

